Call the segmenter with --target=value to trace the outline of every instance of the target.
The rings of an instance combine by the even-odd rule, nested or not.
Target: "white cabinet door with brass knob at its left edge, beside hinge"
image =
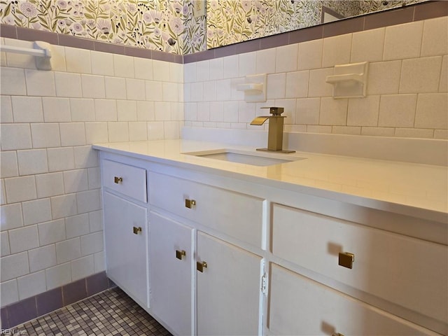
[[[198,232],[197,262],[197,334],[258,335],[260,256]]]

